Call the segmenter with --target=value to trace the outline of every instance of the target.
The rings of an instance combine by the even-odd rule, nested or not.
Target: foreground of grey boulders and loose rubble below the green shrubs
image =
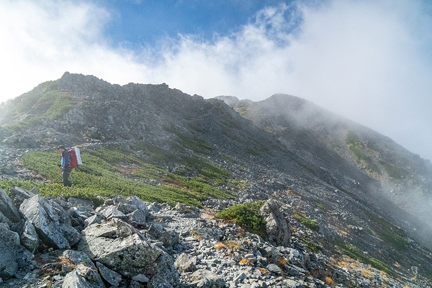
[[[260,210],[264,240],[214,217],[232,201],[200,209],[114,196],[94,207],[17,187],[12,201],[0,189],[0,287],[404,287],[325,247],[311,251],[301,239],[324,236],[290,216],[285,195]]]

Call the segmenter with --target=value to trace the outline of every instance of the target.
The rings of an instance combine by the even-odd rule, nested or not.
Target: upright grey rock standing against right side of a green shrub
[[[274,199],[267,200],[260,209],[260,214],[267,222],[266,233],[270,243],[276,246],[289,246],[291,242],[291,225],[282,214],[280,205]]]

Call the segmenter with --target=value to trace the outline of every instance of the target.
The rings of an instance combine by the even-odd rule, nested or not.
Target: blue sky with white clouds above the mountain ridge
[[[432,2],[0,2],[0,102],[64,72],[204,98],[292,94],[432,159]]]

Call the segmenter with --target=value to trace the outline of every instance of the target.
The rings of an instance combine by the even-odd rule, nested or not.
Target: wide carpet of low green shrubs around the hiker
[[[145,163],[121,147],[82,149],[83,165],[73,170],[70,176],[72,187],[63,187],[57,164],[58,152],[28,152],[22,157],[26,168],[49,179],[51,183],[19,182],[17,186],[37,186],[42,196],[79,197],[101,202],[101,198],[111,195],[128,197],[136,195],[144,201],[168,202],[175,205],[181,202],[200,207],[206,197],[226,199],[233,197],[207,183],[203,177],[182,177],[164,170],[162,167]],[[205,166],[205,165],[204,165]],[[126,168],[125,168],[126,167]],[[127,173],[124,171],[129,169]],[[162,180],[163,185],[152,186],[126,178],[124,174]],[[131,176],[131,175],[130,175]],[[9,182],[3,186],[10,186]],[[178,183],[178,185],[176,185]]]

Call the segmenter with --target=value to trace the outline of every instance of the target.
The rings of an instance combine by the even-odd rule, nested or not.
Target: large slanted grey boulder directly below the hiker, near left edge
[[[79,240],[78,231],[70,226],[69,214],[58,204],[53,207],[43,197],[35,195],[25,199],[20,210],[27,220],[32,221],[44,244],[55,249],[68,249]]]

